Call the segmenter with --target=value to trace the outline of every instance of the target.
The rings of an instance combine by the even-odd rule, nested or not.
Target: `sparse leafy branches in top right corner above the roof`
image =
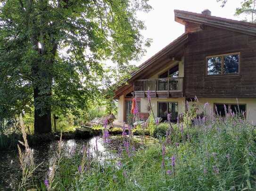
[[[222,2],[222,7],[225,6],[228,0],[217,0],[217,2]],[[256,23],[255,14],[256,14],[256,0],[243,0],[241,2],[241,7],[236,8],[235,15],[249,15],[251,18],[249,22]]]

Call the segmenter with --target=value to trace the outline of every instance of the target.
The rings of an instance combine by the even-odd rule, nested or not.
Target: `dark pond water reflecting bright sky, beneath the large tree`
[[[113,150],[117,149],[118,142],[121,141],[120,136],[110,136],[111,146],[103,144],[101,137],[93,137],[90,139],[70,139],[62,140],[62,154],[66,156],[72,155],[74,150],[82,151],[83,144],[90,147],[90,152],[94,153],[94,147],[98,145],[98,151],[100,153],[99,160],[112,159],[116,157],[117,153]],[[111,149],[110,149],[111,148]],[[35,170],[37,179],[44,180],[49,173],[49,167],[57,157],[58,141],[51,141],[42,145],[36,145],[32,147],[33,159],[35,165],[42,164]],[[0,191],[11,191],[13,190],[21,178],[21,168],[18,159],[17,151],[5,151],[0,152]]]

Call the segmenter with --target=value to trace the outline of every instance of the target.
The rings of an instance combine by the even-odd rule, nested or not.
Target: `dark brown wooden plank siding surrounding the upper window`
[[[240,53],[239,75],[206,76],[206,57]],[[256,37],[206,26],[192,34],[184,53],[186,97],[256,97]]]

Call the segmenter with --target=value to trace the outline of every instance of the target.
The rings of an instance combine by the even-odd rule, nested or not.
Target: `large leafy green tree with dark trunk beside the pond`
[[[40,134],[52,108],[86,108],[106,82],[104,61],[122,73],[144,52],[136,12],[147,1],[0,0],[0,115],[33,107]]]

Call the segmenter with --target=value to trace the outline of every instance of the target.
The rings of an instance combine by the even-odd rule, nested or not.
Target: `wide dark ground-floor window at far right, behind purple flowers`
[[[218,115],[220,116],[225,116],[225,107],[227,109],[227,112],[229,112],[229,110],[231,109],[232,112],[234,112],[235,114],[246,114],[246,104],[215,104],[215,114],[218,113]],[[245,115],[246,116],[246,115]]]

